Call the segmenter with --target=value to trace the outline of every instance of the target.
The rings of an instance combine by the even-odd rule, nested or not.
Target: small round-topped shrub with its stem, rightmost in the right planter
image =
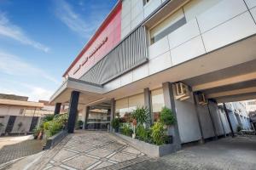
[[[172,143],[172,126],[176,122],[176,118],[174,114],[172,113],[172,110],[163,107],[162,110],[160,111],[160,122],[163,123],[164,127],[166,128],[166,135],[167,135],[167,143],[171,144]]]

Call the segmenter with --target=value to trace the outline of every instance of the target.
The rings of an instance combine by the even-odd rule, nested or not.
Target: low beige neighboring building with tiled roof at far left
[[[28,97],[0,94],[0,134],[31,133],[44,115],[54,114],[48,102],[27,101]]]

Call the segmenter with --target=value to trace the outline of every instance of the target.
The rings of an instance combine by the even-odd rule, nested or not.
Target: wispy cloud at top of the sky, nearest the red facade
[[[82,3],[79,3],[82,5]],[[84,5],[84,4],[83,4]],[[88,20],[86,23],[81,19],[79,14],[73,11],[73,8],[70,4],[68,4],[65,0],[56,1],[56,16],[72,31],[77,32],[82,37],[90,37],[92,31],[96,28],[96,20]],[[100,14],[101,11],[98,11]],[[88,17],[88,16],[84,16]]]

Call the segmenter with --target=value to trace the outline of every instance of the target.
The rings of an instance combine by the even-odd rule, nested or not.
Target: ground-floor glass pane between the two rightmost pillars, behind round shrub
[[[165,106],[163,89],[155,89],[151,91],[152,111],[154,122],[157,122],[160,117],[160,111]]]

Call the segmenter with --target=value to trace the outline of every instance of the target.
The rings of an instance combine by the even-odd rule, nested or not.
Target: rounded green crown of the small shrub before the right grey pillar
[[[169,109],[167,107],[162,108],[162,110],[160,112],[160,122],[162,122],[166,126],[171,126],[171,125],[175,124],[176,119],[175,119],[175,116],[173,115],[171,109]]]

